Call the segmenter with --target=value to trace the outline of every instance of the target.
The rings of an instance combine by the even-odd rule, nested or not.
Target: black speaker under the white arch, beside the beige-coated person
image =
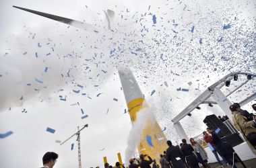
[[[214,114],[206,116],[203,122],[206,124],[207,127],[210,127],[213,130],[220,128],[220,132],[218,133],[218,136],[220,136],[220,138],[232,134],[228,127]]]

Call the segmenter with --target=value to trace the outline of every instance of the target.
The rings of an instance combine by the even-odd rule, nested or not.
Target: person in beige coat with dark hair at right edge
[[[243,133],[251,151],[256,155],[256,116],[253,116],[253,120],[248,121],[247,116],[241,113],[240,106],[235,103],[230,106],[230,110],[234,126]]]

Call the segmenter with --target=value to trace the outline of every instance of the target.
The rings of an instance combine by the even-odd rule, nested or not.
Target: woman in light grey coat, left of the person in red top
[[[190,143],[193,146],[193,149],[195,151],[195,154],[197,155],[197,159],[199,161],[199,163],[201,163],[203,165],[204,168],[210,168],[210,165],[208,165],[208,156],[206,151],[203,149],[203,147],[201,146],[201,144],[199,144],[198,142],[196,142],[193,138],[190,138]]]

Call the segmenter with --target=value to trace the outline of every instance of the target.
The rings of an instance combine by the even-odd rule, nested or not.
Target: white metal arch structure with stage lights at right
[[[230,81],[233,79],[234,75],[247,75],[247,81],[236,87],[233,91],[228,93],[228,95],[224,95],[222,91],[220,90],[225,84],[226,81]],[[243,73],[243,72],[234,72],[226,75],[210,87],[208,87],[199,97],[197,97],[192,103],[187,106],[181,113],[179,113],[176,117],[172,119],[172,122],[174,124],[174,128],[179,135],[180,138],[185,138],[189,142],[189,138],[187,134],[185,133],[185,130],[181,126],[181,123],[179,122],[182,120],[185,116],[187,116],[190,112],[195,110],[200,104],[202,103],[215,103],[220,106],[220,108],[224,111],[224,113],[228,116],[228,118],[232,118],[231,111],[229,107],[232,105],[231,101],[228,99],[228,96],[234,93],[237,89],[245,85],[249,80],[256,79],[256,74],[253,73]],[[208,98],[212,97],[214,101],[206,101]],[[243,99],[239,104],[242,106],[245,106],[245,104],[253,101],[253,99],[256,99],[256,92],[247,97],[246,99]]]

